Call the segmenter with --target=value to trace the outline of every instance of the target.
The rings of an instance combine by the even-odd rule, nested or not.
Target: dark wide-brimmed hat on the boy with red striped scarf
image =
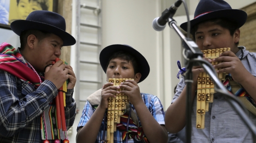
[[[63,40],[63,46],[76,44],[76,39],[65,32],[66,22],[64,17],[51,11],[33,11],[26,20],[12,22],[11,28],[18,36],[24,30],[42,30],[59,36]]]

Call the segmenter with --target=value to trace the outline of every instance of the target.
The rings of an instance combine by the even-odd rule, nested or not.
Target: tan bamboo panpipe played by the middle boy
[[[134,80],[131,78],[109,78],[108,82],[113,82],[113,86],[119,86],[125,80]],[[117,89],[125,90],[124,88]],[[107,143],[114,142],[114,132],[116,124],[120,123],[120,116],[124,115],[126,104],[129,103],[128,96],[125,93],[116,93],[116,97],[109,97],[107,104]]]

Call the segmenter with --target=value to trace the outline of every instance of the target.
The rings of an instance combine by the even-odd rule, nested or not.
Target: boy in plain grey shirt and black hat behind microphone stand
[[[227,87],[234,96],[241,96],[236,89],[243,91],[245,97],[238,97],[250,111],[249,117],[256,125],[256,53],[249,53],[244,46],[238,46],[239,28],[246,22],[247,14],[241,10],[232,9],[224,0],[200,0],[191,20],[191,34],[199,49],[231,48],[220,57],[209,62],[222,61],[214,68],[220,68],[217,73],[230,73],[232,80]],[[187,30],[187,22],[180,26]],[[192,91],[196,91],[198,74],[204,70],[194,67]],[[226,78],[231,76],[226,76]],[[227,81],[227,80],[226,80]],[[232,84],[231,84],[232,82]],[[231,85],[231,86],[230,86]],[[167,131],[179,132],[185,126],[186,85],[181,78],[177,93],[166,112]],[[193,143],[251,143],[252,134],[236,111],[219,93],[214,93],[213,103],[209,103],[209,111],[205,114],[205,128],[196,129],[196,93],[192,92],[192,137]],[[243,96],[243,95],[242,95]]]

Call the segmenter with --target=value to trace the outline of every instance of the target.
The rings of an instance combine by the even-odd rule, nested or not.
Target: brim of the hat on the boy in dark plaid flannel
[[[43,30],[59,36],[63,40],[63,46],[70,46],[76,44],[76,39],[64,30],[54,27],[52,25],[34,22],[29,20],[16,20],[11,23],[11,28],[14,33],[20,36],[24,30]]]

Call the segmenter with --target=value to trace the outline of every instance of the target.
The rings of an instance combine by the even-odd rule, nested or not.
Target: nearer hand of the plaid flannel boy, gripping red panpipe
[[[53,82],[57,89],[60,89],[69,77],[68,69],[65,67],[62,60],[57,61],[53,66],[48,66],[45,69],[44,79]]]

